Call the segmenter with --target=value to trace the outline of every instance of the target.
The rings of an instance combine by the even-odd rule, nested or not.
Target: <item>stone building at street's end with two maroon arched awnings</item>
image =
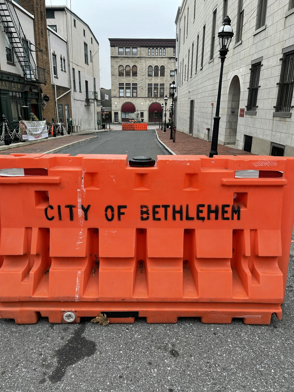
[[[109,38],[112,119],[128,122],[139,113],[144,122],[160,122],[161,105],[174,80],[174,39]]]

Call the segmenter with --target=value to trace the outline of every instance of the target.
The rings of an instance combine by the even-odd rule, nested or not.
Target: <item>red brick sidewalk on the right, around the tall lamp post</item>
[[[194,138],[193,136],[184,133],[176,132],[176,141],[173,143],[169,140],[171,130],[167,129],[164,133],[161,129],[156,129],[160,140],[171,149],[176,155],[206,155],[209,156],[211,150],[211,142]],[[236,150],[232,147],[218,144],[218,155],[253,155],[251,152]]]

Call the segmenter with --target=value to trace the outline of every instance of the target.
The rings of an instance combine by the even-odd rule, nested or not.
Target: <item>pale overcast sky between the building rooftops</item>
[[[176,38],[174,21],[182,0],[45,0],[67,5],[99,42],[100,87],[111,88],[108,38]]]

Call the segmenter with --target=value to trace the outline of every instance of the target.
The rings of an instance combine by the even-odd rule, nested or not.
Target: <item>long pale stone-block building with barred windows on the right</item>
[[[294,156],[294,1],[183,0],[176,15],[176,126],[207,139],[220,59],[218,30],[234,37],[224,63],[219,143]]]

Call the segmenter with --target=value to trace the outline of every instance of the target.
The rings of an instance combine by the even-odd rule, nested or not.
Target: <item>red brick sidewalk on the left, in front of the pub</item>
[[[11,148],[9,150],[0,151],[0,154],[9,155],[9,154],[16,154],[16,153],[24,153],[24,154],[33,154],[33,153],[42,153],[47,152],[58,147],[63,147],[67,144],[80,142],[82,140],[87,140],[89,138],[93,138],[93,134],[87,135],[73,135],[68,138],[49,138],[46,141],[42,141],[40,143],[24,145],[22,147]]]

